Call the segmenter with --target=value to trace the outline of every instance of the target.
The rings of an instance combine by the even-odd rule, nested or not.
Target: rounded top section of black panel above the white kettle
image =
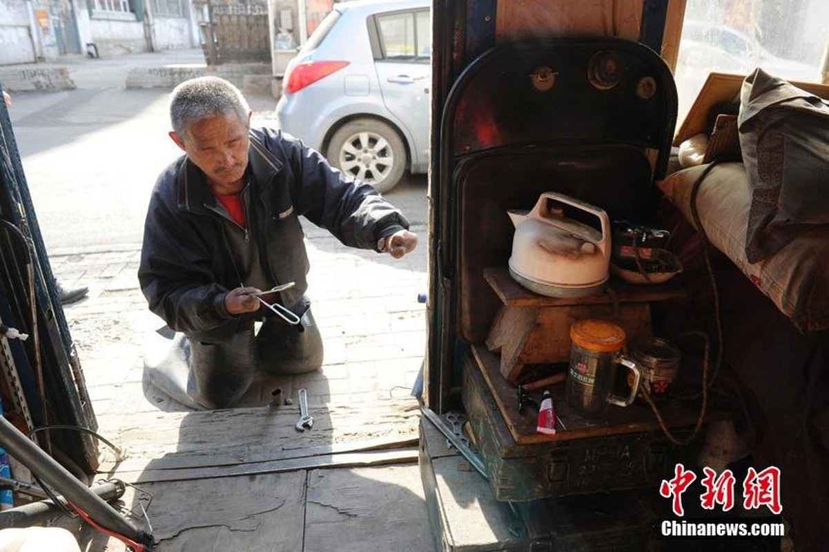
[[[499,46],[461,75],[452,99],[442,147],[456,157],[521,143],[632,143],[667,162],[676,121],[667,65],[623,40]]]

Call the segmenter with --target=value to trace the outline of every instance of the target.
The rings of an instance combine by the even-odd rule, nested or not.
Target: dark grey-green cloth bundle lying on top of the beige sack
[[[829,224],[829,104],[758,69],[743,82],[739,143],[749,177],[749,262]]]

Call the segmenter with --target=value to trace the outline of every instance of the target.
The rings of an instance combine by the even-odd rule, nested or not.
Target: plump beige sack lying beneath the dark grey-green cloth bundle
[[[694,225],[691,189],[707,165],[673,173],[659,187]],[[752,193],[742,163],[720,163],[701,182],[697,214],[720,249],[803,333],[829,328],[829,225],[810,225],[776,254],[751,263],[745,230]]]

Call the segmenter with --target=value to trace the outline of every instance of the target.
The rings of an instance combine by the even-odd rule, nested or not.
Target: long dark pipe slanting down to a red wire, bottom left
[[[0,417],[0,444],[18,462],[28,467],[47,485],[55,488],[66,500],[85,511],[104,529],[124,535],[128,539],[146,545],[153,544],[153,535],[140,529],[94,492],[90,491],[75,476],[20,433],[7,419]]]

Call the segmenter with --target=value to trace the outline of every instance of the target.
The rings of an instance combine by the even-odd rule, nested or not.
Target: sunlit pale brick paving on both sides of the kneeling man
[[[410,393],[426,346],[425,228],[417,249],[403,259],[351,249],[308,227],[311,260],[308,296],[325,343],[321,371],[294,376],[312,404],[384,399]],[[138,288],[138,246],[51,254],[52,270],[66,286],[90,293],[66,305],[65,316],[99,422],[124,409],[183,409],[143,383],[143,356],[163,326]],[[116,419],[112,419],[116,422]],[[116,429],[116,428],[112,428]]]

